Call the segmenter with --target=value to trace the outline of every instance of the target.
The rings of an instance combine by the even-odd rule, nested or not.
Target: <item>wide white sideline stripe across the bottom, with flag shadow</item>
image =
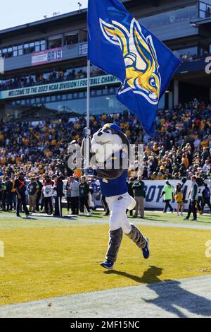
[[[0,306],[0,317],[211,317],[211,275]]]

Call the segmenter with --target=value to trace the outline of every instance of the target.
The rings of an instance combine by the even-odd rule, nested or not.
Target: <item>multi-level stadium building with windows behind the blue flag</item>
[[[181,64],[159,107],[194,97],[211,100],[211,0],[124,0],[127,10],[179,57]],[[87,10],[0,31],[0,116],[7,121],[27,107],[86,113]],[[211,67],[211,66],[210,66]],[[120,82],[91,66],[91,114],[124,111]]]

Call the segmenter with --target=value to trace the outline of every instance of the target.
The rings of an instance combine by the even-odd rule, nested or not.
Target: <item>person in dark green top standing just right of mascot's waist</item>
[[[141,215],[141,218],[144,218],[144,197],[145,197],[145,184],[142,181],[142,177],[139,176],[138,179],[132,185],[132,189],[134,190],[134,198],[136,200],[136,212],[134,214],[134,218],[137,218],[138,211]]]

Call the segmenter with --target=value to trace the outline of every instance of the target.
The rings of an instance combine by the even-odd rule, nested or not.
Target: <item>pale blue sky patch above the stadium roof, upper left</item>
[[[0,30],[41,20],[44,15],[52,16],[77,11],[78,2],[87,7],[88,0],[3,0],[0,9]]]

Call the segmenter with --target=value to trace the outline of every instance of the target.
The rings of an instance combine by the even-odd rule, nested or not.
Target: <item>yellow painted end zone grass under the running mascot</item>
[[[211,230],[140,229],[150,238],[151,259],[145,261],[124,237],[115,271],[99,265],[108,225],[2,230],[0,304],[211,274],[211,258],[205,256]]]

